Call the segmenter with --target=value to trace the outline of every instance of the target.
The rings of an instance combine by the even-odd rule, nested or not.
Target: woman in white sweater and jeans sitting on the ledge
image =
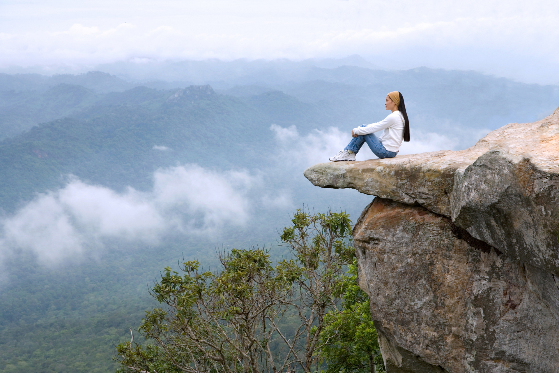
[[[390,92],[386,96],[386,110],[391,110],[385,119],[377,123],[364,124],[351,131],[353,139],[347,147],[340,150],[338,154],[331,157],[332,162],[339,160],[355,160],[355,155],[367,142],[369,148],[378,158],[394,158],[400,150],[402,139],[410,140],[410,121],[406,114],[404,97],[398,91]],[[375,135],[376,131],[384,130],[380,137]]]

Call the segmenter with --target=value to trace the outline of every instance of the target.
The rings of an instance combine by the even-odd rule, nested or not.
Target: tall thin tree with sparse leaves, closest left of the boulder
[[[282,242],[286,243],[293,259],[278,263],[281,271],[297,273],[292,298],[286,301],[296,311],[299,325],[289,343],[277,328],[283,342],[290,346],[288,358],[305,372],[320,361],[317,352],[323,345],[320,333],[328,325],[324,317],[328,311],[338,312],[338,303],[345,282],[344,266],[354,256],[349,245],[351,221],[346,213],[309,215],[300,209],[293,215],[292,226],[283,229]]]

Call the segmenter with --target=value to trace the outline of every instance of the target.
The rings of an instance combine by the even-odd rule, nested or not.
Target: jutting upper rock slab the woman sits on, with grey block
[[[316,186],[449,216],[499,251],[559,275],[559,108],[465,150],[319,163],[304,174]]]

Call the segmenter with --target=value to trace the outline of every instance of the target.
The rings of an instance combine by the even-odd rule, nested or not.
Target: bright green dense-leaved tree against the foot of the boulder
[[[327,366],[323,373],[385,371],[369,297],[359,289],[357,269],[355,260],[343,284],[342,311],[329,312],[324,317],[328,326],[320,333],[320,355]]]

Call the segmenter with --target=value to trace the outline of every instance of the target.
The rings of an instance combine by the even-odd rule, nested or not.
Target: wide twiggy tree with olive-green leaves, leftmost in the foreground
[[[200,263],[184,262],[180,276],[169,267],[153,288],[167,305],[146,312],[140,329],[152,344],[118,346],[121,363],[131,370],[183,372],[255,372],[273,366],[269,341],[279,299],[289,279],[274,276],[262,249],[220,254],[219,274],[198,272]]]

